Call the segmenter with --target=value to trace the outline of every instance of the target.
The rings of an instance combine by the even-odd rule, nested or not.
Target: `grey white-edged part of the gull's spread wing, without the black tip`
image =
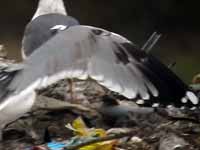
[[[10,85],[20,92],[40,89],[60,79],[88,77],[127,98],[143,99],[158,91],[138,69],[125,44],[130,41],[115,33],[90,26],[74,26],[38,48]],[[137,57],[137,56],[136,56]],[[141,57],[141,56],[138,56]]]

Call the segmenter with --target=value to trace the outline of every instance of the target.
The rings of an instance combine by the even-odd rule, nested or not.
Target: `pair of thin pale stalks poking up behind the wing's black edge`
[[[157,34],[157,32],[154,32],[150,38],[147,40],[147,42],[142,46],[142,50],[145,52],[150,52],[153,46],[158,42],[160,39],[161,34]]]

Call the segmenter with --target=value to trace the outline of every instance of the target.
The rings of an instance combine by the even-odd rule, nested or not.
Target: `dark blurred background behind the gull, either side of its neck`
[[[195,0],[64,0],[68,14],[81,24],[119,33],[142,46],[157,31],[151,51],[186,83],[200,72],[200,13]],[[0,5],[0,44],[9,58],[21,60],[21,40],[38,0],[6,0]]]

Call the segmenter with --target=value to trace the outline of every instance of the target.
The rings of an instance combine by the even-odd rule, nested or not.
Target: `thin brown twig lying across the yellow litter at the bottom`
[[[135,130],[129,131],[127,133],[119,133],[119,134],[115,134],[115,135],[109,135],[107,137],[92,139],[92,140],[89,140],[89,141],[79,143],[79,144],[74,145],[74,146],[65,147],[64,150],[76,150],[76,149],[81,148],[83,146],[87,146],[87,145],[98,143],[98,142],[110,141],[110,140],[114,140],[114,139],[120,139],[120,138],[123,138],[123,137],[133,136],[137,133],[137,131],[138,130],[135,129]]]

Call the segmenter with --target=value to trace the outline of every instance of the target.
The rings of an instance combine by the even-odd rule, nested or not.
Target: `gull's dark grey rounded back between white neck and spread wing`
[[[62,14],[46,14],[35,18],[26,26],[24,32],[22,41],[24,55],[29,56],[35,49],[52,38],[59,31],[59,29],[52,30],[53,27],[68,28],[74,25],[79,25],[79,22],[73,17]]]

